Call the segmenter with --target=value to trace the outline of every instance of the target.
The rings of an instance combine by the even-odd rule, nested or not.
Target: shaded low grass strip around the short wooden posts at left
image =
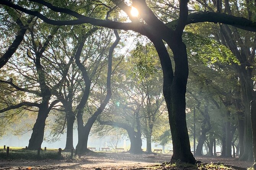
[[[37,151],[30,151],[26,149],[11,149],[9,151],[9,156],[7,157],[6,150],[0,150],[0,159],[2,160],[62,160],[70,159],[70,152],[62,152],[61,155],[58,154],[58,151],[40,151],[40,156],[38,156]]]

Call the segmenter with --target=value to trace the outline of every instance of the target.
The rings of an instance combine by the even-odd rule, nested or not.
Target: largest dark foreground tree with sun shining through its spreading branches
[[[33,2],[34,0],[29,0]],[[70,25],[90,23],[96,26],[109,27],[112,29],[134,30],[142,35],[147,36],[154,44],[158,56],[160,58],[161,66],[163,69],[163,94],[169,114],[170,128],[173,139],[173,156],[171,161],[182,161],[188,163],[195,163],[189,144],[188,129],[186,127],[186,84],[188,80],[188,56],[186,45],[182,41],[183,29],[186,24],[195,22],[222,22],[224,24],[231,24],[236,27],[255,31],[255,23],[249,19],[238,18],[224,13],[192,13],[188,16],[188,0],[180,0],[179,2],[179,19],[176,27],[167,27],[155,14],[150,10],[144,0],[133,0],[132,5],[139,10],[140,17],[145,21],[140,22],[137,17],[132,17],[129,14],[130,7],[124,2],[113,0],[122,10],[126,12],[132,22],[113,22],[104,21],[101,19],[90,18],[83,16],[68,8],[59,8],[53,6],[51,3],[43,0],[36,1],[46,6],[47,8],[65,13],[77,19],[60,21],[52,20],[39,13],[25,9],[19,5],[13,4],[7,0],[0,2],[2,5],[10,6],[16,10],[37,16],[43,21],[54,25]],[[196,18],[197,17],[197,18]],[[171,48],[174,56],[175,69],[172,69],[172,63],[166,46],[163,40]],[[80,126],[78,124],[78,126]]]

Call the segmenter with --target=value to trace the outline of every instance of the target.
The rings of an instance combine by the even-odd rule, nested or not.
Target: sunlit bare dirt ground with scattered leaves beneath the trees
[[[129,154],[129,153],[96,153],[93,155],[81,156],[77,160],[12,160],[0,161],[0,170],[141,170],[142,167],[168,162],[171,155],[168,154]],[[253,162],[238,161],[234,158],[220,157],[196,157],[202,162],[222,162],[223,164],[235,165],[238,167],[250,167]],[[99,169],[96,169],[99,170]]]

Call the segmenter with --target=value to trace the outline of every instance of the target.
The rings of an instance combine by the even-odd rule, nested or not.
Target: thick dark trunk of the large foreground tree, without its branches
[[[165,77],[166,73],[163,70],[163,94],[168,109],[171,137],[173,141],[173,156],[171,162],[180,160],[181,162],[194,164],[196,160],[190,150],[186,124],[185,95],[188,80],[188,56],[186,53],[186,45],[183,42],[177,42],[176,45],[177,46],[172,49],[176,65],[171,85],[169,84],[171,81],[170,77]]]

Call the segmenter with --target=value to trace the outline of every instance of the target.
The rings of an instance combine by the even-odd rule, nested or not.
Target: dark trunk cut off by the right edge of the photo
[[[253,168],[256,168],[256,101],[251,101],[251,127],[253,132],[253,156],[254,156],[254,165]]]

